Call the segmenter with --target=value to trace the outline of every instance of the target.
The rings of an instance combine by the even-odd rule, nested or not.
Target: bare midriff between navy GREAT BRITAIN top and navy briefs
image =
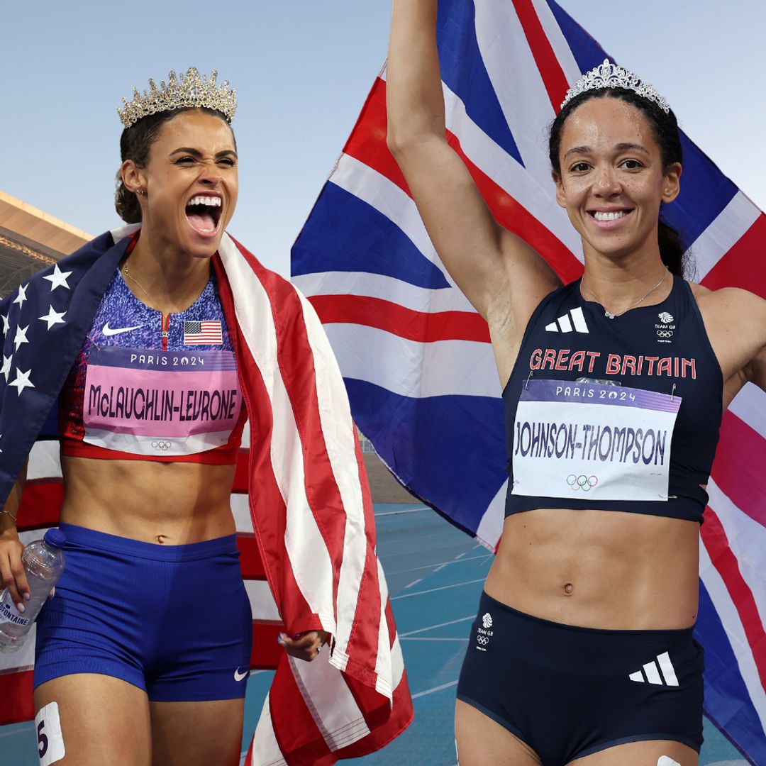
[[[699,524],[541,508],[506,519],[487,594],[553,622],[676,630],[696,621]]]

